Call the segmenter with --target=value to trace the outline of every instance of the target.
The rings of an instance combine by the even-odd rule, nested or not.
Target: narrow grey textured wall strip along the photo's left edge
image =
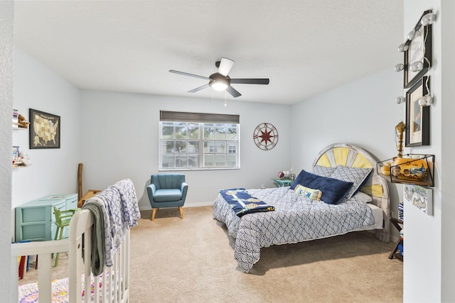
[[[0,297],[10,298],[10,278],[14,275],[9,261],[11,253],[11,112],[13,109],[14,4],[0,2]],[[9,275],[8,273],[11,272]],[[5,300],[7,301],[7,299]]]

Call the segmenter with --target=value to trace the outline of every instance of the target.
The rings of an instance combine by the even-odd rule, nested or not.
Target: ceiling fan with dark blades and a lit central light
[[[264,78],[231,79],[228,74],[232,68],[232,65],[234,65],[234,61],[228,58],[221,58],[221,61],[215,62],[215,67],[218,68],[218,72],[215,72],[215,74],[212,74],[209,77],[189,74],[188,72],[179,72],[178,70],[169,70],[169,72],[209,80],[208,84],[204,84],[202,87],[196,87],[196,89],[191,89],[191,91],[188,92],[199,92],[201,89],[205,89],[206,87],[212,87],[218,91],[226,90],[229,94],[232,95],[232,97],[240,97],[242,94],[240,94],[240,92],[237,92],[237,90],[234,87],[231,87],[230,84],[269,84],[269,79]]]

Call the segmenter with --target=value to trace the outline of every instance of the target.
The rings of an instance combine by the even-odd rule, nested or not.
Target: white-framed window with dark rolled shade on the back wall
[[[240,168],[238,115],[160,112],[160,169]]]

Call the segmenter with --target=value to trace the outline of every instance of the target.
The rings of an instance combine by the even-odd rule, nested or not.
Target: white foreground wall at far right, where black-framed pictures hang
[[[430,109],[431,145],[412,150],[435,155],[434,215],[405,204],[405,302],[455,301],[454,6],[450,0],[405,0],[404,37],[423,11],[437,13],[432,25],[433,65],[428,72],[435,100]]]

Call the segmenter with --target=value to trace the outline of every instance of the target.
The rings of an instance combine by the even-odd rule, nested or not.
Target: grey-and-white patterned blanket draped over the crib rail
[[[137,219],[141,217],[133,182],[129,179],[119,181],[88,199],[85,204],[88,202],[100,205],[99,209],[102,210],[102,214],[98,216],[102,216],[104,221],[104,259],[106,266],[112,266],[112,256],[117,252],[124,235],[129,228],[137,225]]]

